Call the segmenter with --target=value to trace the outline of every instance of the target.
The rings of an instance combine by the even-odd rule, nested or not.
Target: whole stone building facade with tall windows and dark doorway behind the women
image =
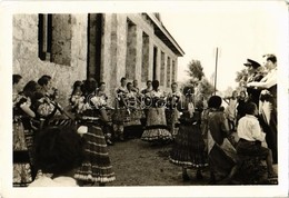
[[[13,16],[13,73],[24,81],[52,76],[64,105],[73,82],[90,77],[109,96],[122,77],[140,88],[157,79],[168,91],[183,55],[157,13]]]

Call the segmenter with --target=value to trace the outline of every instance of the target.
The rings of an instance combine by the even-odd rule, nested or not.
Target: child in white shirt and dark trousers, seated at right
[[[272,151],[261,146],[261,141],[265,141],[266,133],[261,131],[260,123],[256,117],[257,115],[257,105],[248,102],[246,116],[239,120],[237,129],[240,138],[236,148],[237,154],[266,158],[268,178],[276,178],[277,174],[272,167]]]

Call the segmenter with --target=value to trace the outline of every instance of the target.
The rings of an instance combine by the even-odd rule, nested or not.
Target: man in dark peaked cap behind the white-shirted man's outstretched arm
[[[248,79],[247,79],[248,100],[255,102],[258,107],[261,91],[255,89],[253,87],[248,87],[248,83],[259,82],[263,78],[263,73],[261,72],[262,67],[259,62],[252,59],[247,59],[247,62],[243,65],[247,67],[248,70]]]

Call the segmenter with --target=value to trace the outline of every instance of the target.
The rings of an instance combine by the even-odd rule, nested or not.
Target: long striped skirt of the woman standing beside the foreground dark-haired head
[[[96,125],[87,126],[88,132],[83,135],[86,139],[86,160],[77,170],[74,178],[91,182],[110,182],[116,180],[101,128]]]

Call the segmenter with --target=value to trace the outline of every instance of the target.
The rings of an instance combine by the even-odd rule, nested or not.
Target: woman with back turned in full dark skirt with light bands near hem
[[[182,167],[182,179],[185,181],[190,179],[187,172],[188,168],[196,168],[196,177],[201,179],[201,169],[208,166],[205,152],[206,145],[200,128],[201,109],[195,108],[192,90],[193,88],[186,87],[183,97],[178,102],[178,110],[182,115],[170,154],[170,161]]]

